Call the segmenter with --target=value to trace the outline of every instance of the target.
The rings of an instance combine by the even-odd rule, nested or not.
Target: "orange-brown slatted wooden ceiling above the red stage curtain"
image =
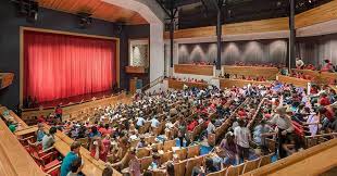
[[[137,12],[116,7],[101,0],[37,0],[40,7],[77,14],[86,12],[91,17],[109,22],[123,22],[130,25],[148,24]]]

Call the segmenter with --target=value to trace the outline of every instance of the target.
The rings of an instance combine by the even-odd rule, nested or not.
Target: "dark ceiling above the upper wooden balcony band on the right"
[[[176,28],[216,25],[217,4],[223,1],[223,24],[286,17],[289,0],[155,0],[170,14],[176,13]],[[295,0],[296,13],[310,10],[332,0]],[[173,11],[171,8],[173,7]],[[168,23],[168,21],[167,21]]]

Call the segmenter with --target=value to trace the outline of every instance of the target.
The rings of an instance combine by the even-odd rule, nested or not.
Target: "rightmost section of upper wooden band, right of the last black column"
[[[295,17],[296,28],[307,27],[314,24],[337,18],[337,0],[302,12]]]

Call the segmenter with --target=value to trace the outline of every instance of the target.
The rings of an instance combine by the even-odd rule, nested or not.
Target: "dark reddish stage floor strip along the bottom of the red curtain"
[[[57,106],[59,104],[65,105],[65,104],[68,104],[70,102],[78,103],[80,101],[91,100],[93,97],[97,99],[101,99],[103,97],[111,96],[112,93],[115,93],[115,92],[112,92],[112,90],[109,90],[109,91],[101,91],[101,92],[95,92],[95,93],[79,95],[79,96],[68,97],[65,99],[58,99],[58,100],[53,100],[53,101],[39,102],[39,104],[37,106],[34,106],[34,108],[39,108],[40,105],[42,105],[43,108],[51,108],[51,106]]]

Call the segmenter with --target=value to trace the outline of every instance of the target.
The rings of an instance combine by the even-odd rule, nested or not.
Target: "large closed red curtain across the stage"
[[[39,102],[110,90],[114,40],[24,32],[24,97]]]

